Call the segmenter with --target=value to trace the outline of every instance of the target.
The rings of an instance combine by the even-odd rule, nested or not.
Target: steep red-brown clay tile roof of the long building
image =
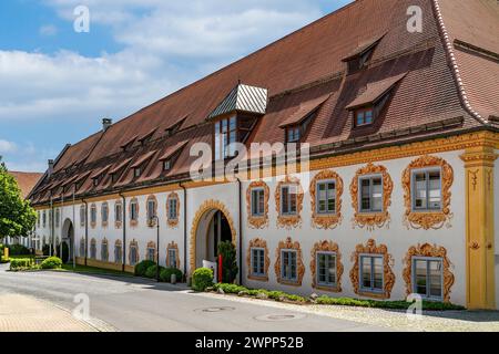
[[[410,6],[422,10],[421,33],[407,31]],[[268,90],[266,114],[258,117],[247,143],[284,142],[281,126],[296,119],[294,115],[305,102],[328,97],[305,137],[313,157],[314,152],[346,153],[482,127],[488,116],[499,116],[498,23],[495,0],[357,0],[71,146],[57,162],[54,175],[37,188],[35,200],[48,198],[44,187],[53,180],[129,158],[138,160],[151,152],[164,154],[184,140],[189,142],[186,148],[170,171],[162,171],[161,154],[154,154],[139,179],[125,167],[118,183],[108,178],[95,189],[85,181],[78,192],[105,192],[189,177],[195,159],[190,147],[200,142],[212,144],[213,127],[205,121],[240,82]],[[347,63],[342,60],[376,39],[380,40],[367,67],[347,74]],[[473,50],[465,50],[456,41],[469,43]],[[354,127],[353,113],[346,107],[363,97],[371,83],[403,74],[375,123]],[[377,91],[368,95],[371,100]],[[164,131],[182,117],[186,118],[181,129],[165,136]],[[121,148],[153,129],[144,146]],[[41,190],[45,191],[38,195]]]

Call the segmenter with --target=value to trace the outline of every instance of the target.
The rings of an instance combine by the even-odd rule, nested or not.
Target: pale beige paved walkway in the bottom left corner
[[[69,311],[21,294],[0,296],[0,332],[94,332]]]

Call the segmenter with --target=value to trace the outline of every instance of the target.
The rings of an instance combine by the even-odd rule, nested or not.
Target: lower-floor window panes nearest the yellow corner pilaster
[[[442,260],[413,258],[413,291],[427,299],[442,299]]]

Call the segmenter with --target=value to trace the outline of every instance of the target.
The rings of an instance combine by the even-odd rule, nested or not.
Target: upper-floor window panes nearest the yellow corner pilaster
[[[413,209],[440,210],[441,177],[440,169],[413,171]]]

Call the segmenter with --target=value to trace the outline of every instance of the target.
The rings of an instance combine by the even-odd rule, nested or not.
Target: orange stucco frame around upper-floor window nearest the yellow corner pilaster
[[[413,169],[439,167],[441,170],[441,210],[439,211],[413,211],[411,174]],[[450,187],[454,183],[454,169],[442,158],[425,155],[415,159],[403,173],[404,204],[406,212],[404,225],[409,229],[440,229],[446,222],[450,227]]]

